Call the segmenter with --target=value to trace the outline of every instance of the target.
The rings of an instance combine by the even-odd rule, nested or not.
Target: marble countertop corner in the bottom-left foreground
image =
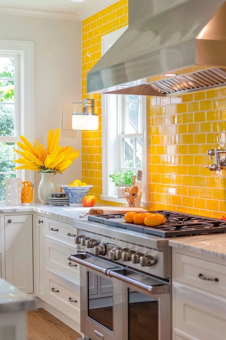
[[[0,279],[0,314],[33,309],[36,309],[35,299]]]

